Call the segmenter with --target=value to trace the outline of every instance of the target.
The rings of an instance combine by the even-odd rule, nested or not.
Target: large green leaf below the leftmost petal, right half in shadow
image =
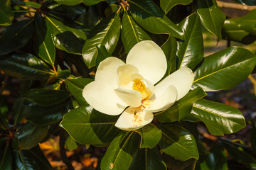
[[[100,145],[111,142],[121,131],[114,126],[117,118],[80,106],[66,113],[60,126],[80,144]]]

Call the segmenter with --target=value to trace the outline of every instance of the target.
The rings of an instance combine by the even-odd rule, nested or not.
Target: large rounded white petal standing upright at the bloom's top
[[[166,57],[161,47],[151,40],[144,40],[132,47],[127,55],[127,64],[139,69],[139,74],[156,84],[167,69]]]

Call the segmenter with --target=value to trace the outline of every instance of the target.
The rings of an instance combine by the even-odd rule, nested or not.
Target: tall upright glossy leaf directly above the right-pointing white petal
[[[184,41],[178,41],[178,69],[194,69],[203,60],[203,33],[197,13],[191,14],[178,25],[184,33]]]

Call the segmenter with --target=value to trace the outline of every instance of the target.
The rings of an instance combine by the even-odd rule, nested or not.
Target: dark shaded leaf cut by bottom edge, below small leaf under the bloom
[[[157,147],[142,148],[137,151],[129,170],[166,170],[166,164],[161,158]]]

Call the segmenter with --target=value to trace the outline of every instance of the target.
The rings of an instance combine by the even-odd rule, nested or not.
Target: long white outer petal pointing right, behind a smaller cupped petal
[[[177,101],[185,96],[191,89],[194,75],[188,67],[181,67],[173,74],[170,74],[163,81],[155,86],[156,98],[163,94],[166,87],[173,85],[178,91]]]

